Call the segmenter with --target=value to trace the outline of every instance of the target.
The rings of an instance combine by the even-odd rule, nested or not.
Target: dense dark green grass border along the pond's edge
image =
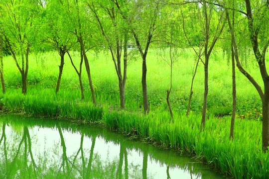
[[[229,140],[230,117],[208,116],[205,131],[200,133],[200,115],[175,113],[174,123],[168,111],[152,111],[142,115],[113,109],[109,105],[92,106],[87,100],[74,100],[72,91],[54,95],[43,89],[22,95],[11,91],[0,96],[3,111],[28,115],[45,115],[102,122],[107,127],[136,134],[162,146],[183,149],[216,166],[236,179],[268,179],[269,154],[261,150],[260,121],[236,120],[235,140]]]

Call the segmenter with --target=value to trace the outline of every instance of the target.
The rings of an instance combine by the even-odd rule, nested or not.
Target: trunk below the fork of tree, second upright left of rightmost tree
[[[205,89],[204,89],[204,102],[203,102],[203,113],[202,113],[202,120],[200,130],[203,131],[205,128],[205,118],[206,118],[206,108],[207,108],[207,95],[208,95],[208,58],[205,59]]]

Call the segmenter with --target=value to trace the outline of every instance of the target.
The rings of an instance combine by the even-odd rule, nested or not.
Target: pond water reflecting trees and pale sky
[[[0,116],[0,179],[225,179],[174,151],[49,118]]]

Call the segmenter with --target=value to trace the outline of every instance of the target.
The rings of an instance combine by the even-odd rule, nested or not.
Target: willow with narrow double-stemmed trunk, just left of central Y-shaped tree
[[[121,14],[117,12],[115,3],[109,1],[88,2],[88,7],[93,12],[100,33],[105,39],[115,66],[119,80],[121,108],[125,109],[125,84],[127,79],[127,59],[128,59],[128,31]],[[105,16],[109,18],[104,18]],[[122,52],[124,52],[124,64],[122,73]]]

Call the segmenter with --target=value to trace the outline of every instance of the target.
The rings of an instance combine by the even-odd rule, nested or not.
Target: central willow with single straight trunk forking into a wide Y
[[[134,40],[142,59],[142,93],[144,114],[149,113],[146,85],[146,57],[150,44],[156,36],[155,31],[158,27],[160,3],[155,0],[136,0],[125,1],[112,0],[117,6],[119,13],[126,20],[126,24]]]

